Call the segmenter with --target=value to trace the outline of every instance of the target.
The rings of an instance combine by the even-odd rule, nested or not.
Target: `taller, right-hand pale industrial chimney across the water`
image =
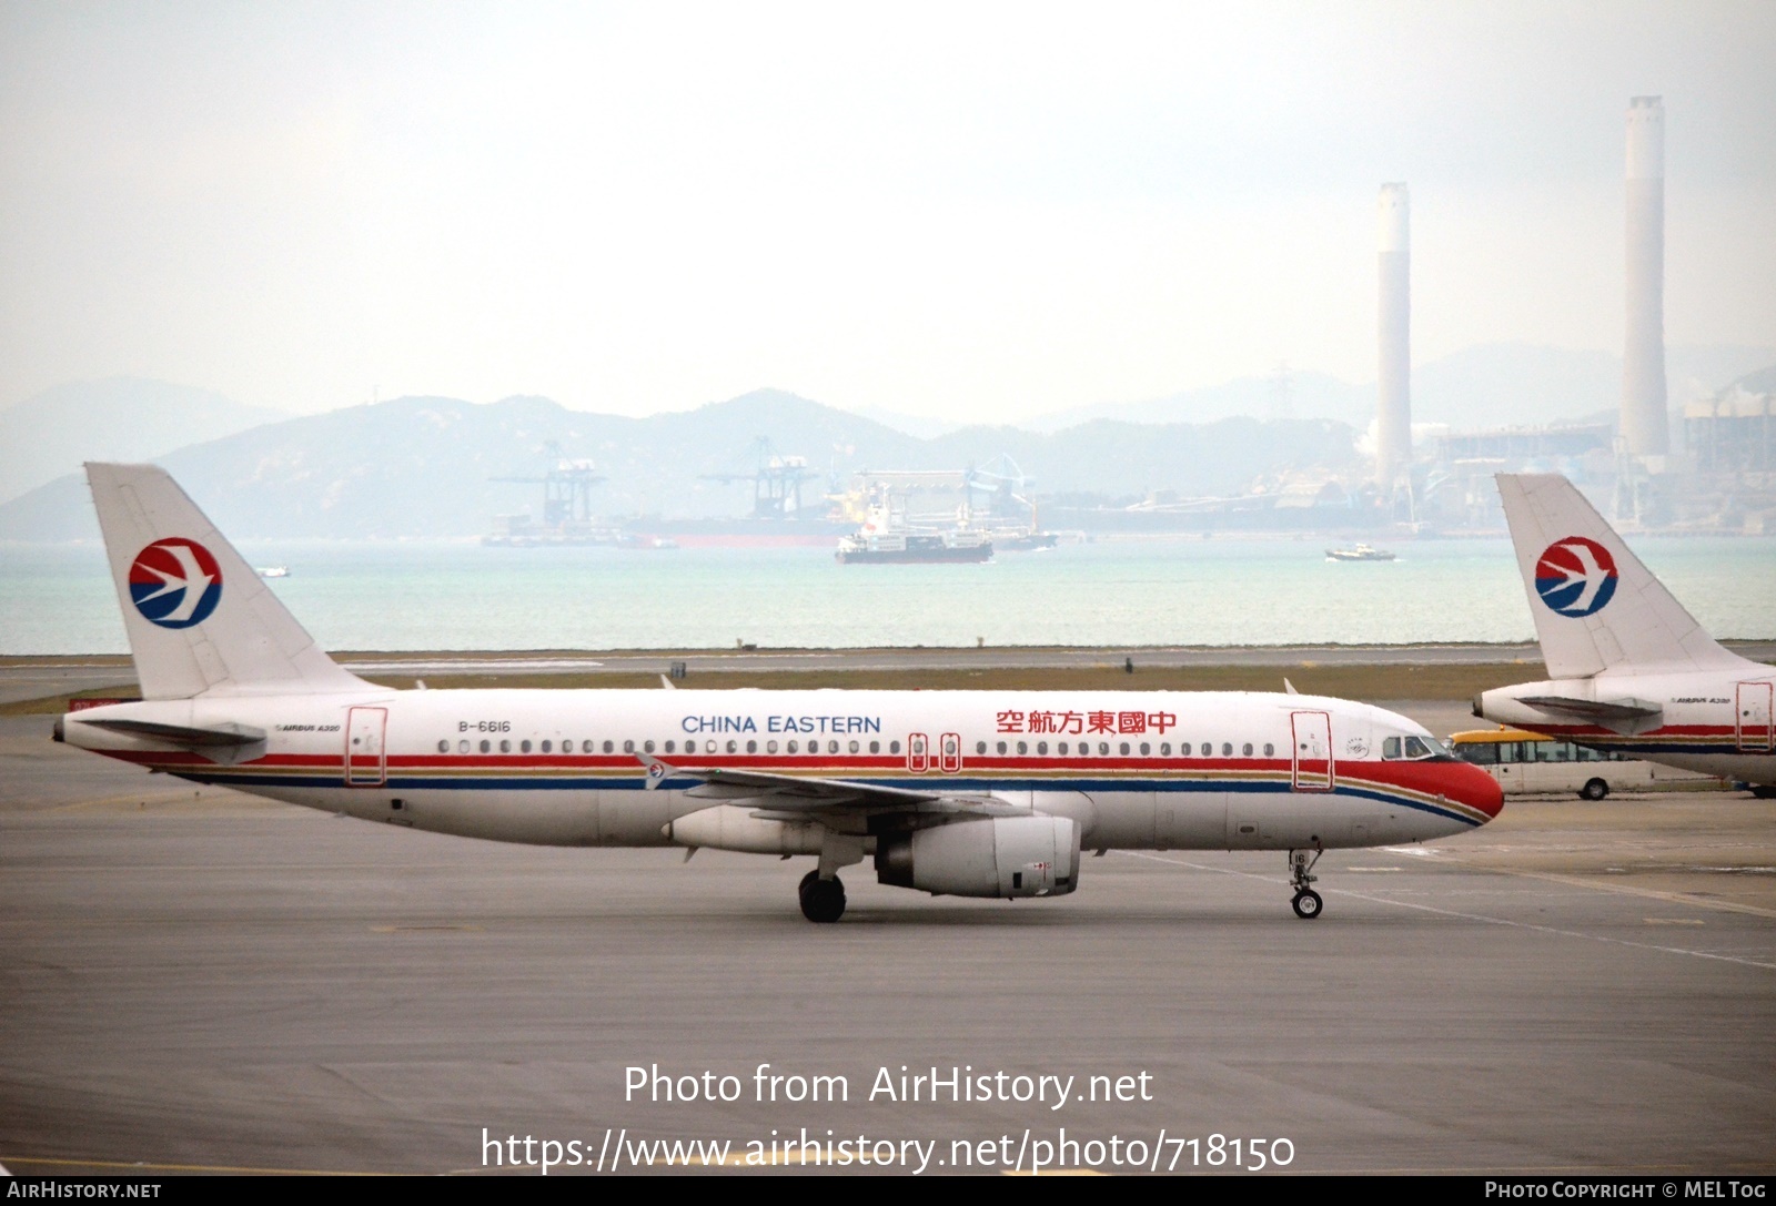
[[[1671,451],[1664,382],[1664,101],[1629,101],[1629,330],[1621,437],[1634,456]]]

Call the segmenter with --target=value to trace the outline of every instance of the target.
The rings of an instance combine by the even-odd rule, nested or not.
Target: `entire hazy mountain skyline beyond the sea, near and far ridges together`
[[[1671,398],[1719,389],[1776,361],[1767,348],[1675,348]],[[1748,380],[1756,380],[1753,377]],[[82,460],[155,460],[233,535],[467,536],[494,515],[542,512],[554,456],[590,458],[607,517],[744,515],[757,440],[821,474],[805,499],[858,469],[964,469],[1000,455],[1037,494],[1137,499],[1236,494],[1284,469],[1350,469],[1373,385],[1323,373],[1243,378],[1144,403],[1087,407],[1023,426],[879,419],[762,389],[645,419],[568,410],[547,398],[476,405],[398,398],[288,417],[163,382],[66,385],[0,410],[0,540],[98,535]],[[1598,352],[1490,345],[1414,369],[1414,421],[1488,428],[1611,416],[1620,362]],[[1249,416],[1270,416],[1266,419]],[[719,481],[716,474],[728,474]]]

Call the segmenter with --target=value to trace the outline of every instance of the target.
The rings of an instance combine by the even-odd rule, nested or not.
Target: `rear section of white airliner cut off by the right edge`
[[[1703,632],[1566,478],[1499,474],[1499,494],[1549,680],[1474,714],[1776,796],[1776,670]]]

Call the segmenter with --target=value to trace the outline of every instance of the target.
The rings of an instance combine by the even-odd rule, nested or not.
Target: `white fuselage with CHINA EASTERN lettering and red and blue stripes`
[[[236,726],[194,748],[103,728]],[[197,696],[64,718],[66,741],[297,805],[549,845],[819,853],[833,810],[760,819],[668,773],[733,769],[971,794],[1071,817],[1085,847],[1298,849],[1414,842],[1499,810],[1476,767],[1384,760],[1424,735],[1376,707],[1295,694],[1019,691],[364,691]],[[1396,742],[1398,744],[1398,742]],[[865,829],[858,829],[865,833]]]

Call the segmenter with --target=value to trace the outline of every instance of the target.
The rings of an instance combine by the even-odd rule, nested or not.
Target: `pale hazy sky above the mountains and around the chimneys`
[[[0,405],[140,375],[1009,421],[1279,361],[1620,352],[1666,103],[1671,343],[1776,343],[1776,4],[0,0]]]

